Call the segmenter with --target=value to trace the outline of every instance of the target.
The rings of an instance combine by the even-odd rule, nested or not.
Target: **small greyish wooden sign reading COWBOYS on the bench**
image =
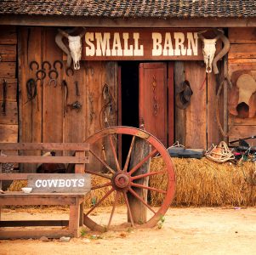
[[[88,173],[50,173],[28,176],[32,193],[84,193],[91,189]]]

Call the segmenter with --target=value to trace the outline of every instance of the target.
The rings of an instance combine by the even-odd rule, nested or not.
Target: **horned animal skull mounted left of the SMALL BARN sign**
[[[79,60],[81,59],[82,55],[82,42],[81,38],[85,34],[85,29],[83,28],[83,31],[76,37],[70,36],[66,31],[63,31],[61,29],[58,30],[59,33],[55,37],[55,42],[57,45],[67,54],[67,61],[66,66],[71,66],[71,60],[73,59],[73,65],[74,69],[78,70],[80,69]],[[66,48],[64,42],[62,41],[62,38],[66,37],[69,42],[69,49]]]

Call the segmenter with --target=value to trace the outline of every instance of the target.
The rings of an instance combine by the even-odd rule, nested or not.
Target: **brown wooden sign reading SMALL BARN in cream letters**
[[[82,40],[83,60],[202,60],[196,29],[88,28]]]

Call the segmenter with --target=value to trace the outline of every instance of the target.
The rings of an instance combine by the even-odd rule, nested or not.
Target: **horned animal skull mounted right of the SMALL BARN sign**
[[[213,72],[214,74],[218,74],[219,70],[217,67],[217,61],[221,59],[225,54],[228,53],[230,49],[230,41],[227,37],[224,35],[224,31],[219,29],[213,29],[214,33],[216,34],[216,37],[213,39],[206,39],[202,36],[202,33],[206,31],[200,31],[198,32],[198,37],[202,40],[203,47],[202,47],[202,54],[204,63],[206,64],[206,72],[212,72],[212,65],[213,65]],[[224,47],[219,51],[219,54],[217,54],[214,57],[214,54],[216,52],[216,42],[221,39],[221,41],[224,43]]]

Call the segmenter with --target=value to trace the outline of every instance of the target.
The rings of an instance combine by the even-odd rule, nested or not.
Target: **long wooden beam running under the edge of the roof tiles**
[[[254,27],[253,18],[92,18],[54,15],[0,15],[0,25],[12,26],[88,26],[88,27]]]

